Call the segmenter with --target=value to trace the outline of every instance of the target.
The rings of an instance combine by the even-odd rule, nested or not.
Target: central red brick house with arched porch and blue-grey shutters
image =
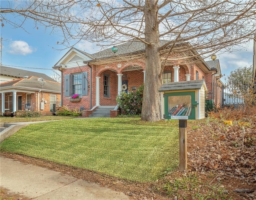
[[[204,79],[211,90],[213,81],[221,76],[220,68],[211,68],[196,51],[191,52],[194,53],[192,59],[198,61],[168,61],[162,74],[163,82],[173,82],[175,77],[178,81]],[[215,62],[219,67],[218,60]],[[94,54],[71,48],[52,68],[62,74],[62,105],[70,109],[83,108],[83,116],[88,117],[97,107],[115,107],[118,93],[136,91],[144,83],[145,46],[131,41]],[[79,102],[70,101],[74,94],[80,95]],[[118,112],[115,110],[117,107],[112,117]]]

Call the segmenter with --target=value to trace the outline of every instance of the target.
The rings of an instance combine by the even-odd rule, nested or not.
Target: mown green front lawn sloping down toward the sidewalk
[[[178,168],[178,135],[178,121],[68,119],[28,125],[0,150],[147,182]]]

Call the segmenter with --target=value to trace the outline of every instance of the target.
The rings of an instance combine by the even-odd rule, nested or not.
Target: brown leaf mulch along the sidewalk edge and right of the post
[[[192,125],[188,124],[187,174],[196,173],[205,182],[222,184],[232,199],[256,200],[256,115],[250,116],[248,126],[233,123],[234,125],[228,126],[206,119],[199,121],[198,128],[192,128]],[[96,182],[112,190],[124,192],[130,199],[136,200],[174,199],[166,196],[161,188],[166,181],[184,175],[176,171],[158,181],[140,183],[20,154],[8,152],[0,154],[26,164],[42,166],[88,182]],[[1,196],[7,199],[6,193],[6,190],[2,190]],[[13,200],[26,199],[14,194],[10,195],[14,196]],[[191,199],[189,194],[182,196]]]

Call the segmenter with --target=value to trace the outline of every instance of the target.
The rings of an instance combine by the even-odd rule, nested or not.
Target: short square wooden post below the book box
[[[179,119],[180,172],[187,170],[187,120]]]

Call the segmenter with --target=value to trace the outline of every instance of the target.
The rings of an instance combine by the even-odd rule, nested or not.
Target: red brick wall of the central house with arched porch
[[[121,67],[118,68],[117,65],[121,64]],[[134,71],[123,71],[126,67],[137,66],[141,69]],[[179,65],[179,81],[186,81],[186,74],[190,70],[190,80],[196,79],[196,71],[198,71],[199,79],[205,79],[208,90],[211,89],[211,73],[205,73],[200,67],[196,64],[190,65]],[[88,72],[88,95],[82,96],[82,100],[79,103],[71,103],[69,101],[70,97],[65,97],[63,93],[63,102],[62,105],[68,105],[70,109],[77,108],[79,109],[83,106],[86,110],[90,109],[90,89],[92,94],[92,105],[94,107],[96,104],[96,77],[100,77],[100,105],[116,105],[116,96],[118,95],[118,76],[117,74],[122,73],[122,81],[128,80],[128,89],[131,91],[132,86],[138,88],[143,84],[145,68],[144,60],[134,60],[134,61],[123,61],[121,63],[108,63],[102,65],[92,65],[92,85],[90,85],[90,67],[87,65],[80,67],[73,67],[63,70],[63,89],[64,89],[64,76],[66,74],[79,73],[82,71]],[[174,81],[174,69],[173,66],[165,67],[164,71],[171,71],[172,81]],[[110,97],[104,97],[104,87],[103,87],[103,76],[105,74],[110,75]],[[71,77],[70,77],[71,78]],[[71,81],[71,80],[70,80]]]

